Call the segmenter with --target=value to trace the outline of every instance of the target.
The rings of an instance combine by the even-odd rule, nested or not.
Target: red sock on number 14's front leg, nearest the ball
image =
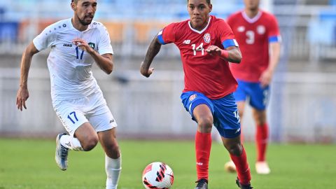
[[[196,132],[196,169],[197,180],[207,179],[209,177],[209,158],[211,151],[211,133]]]

